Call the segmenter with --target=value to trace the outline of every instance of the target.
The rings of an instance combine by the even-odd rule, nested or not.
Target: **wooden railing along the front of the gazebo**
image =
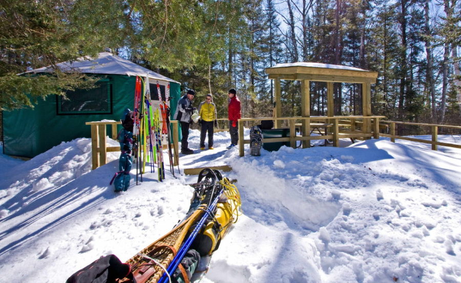
[[[281,117],[281,118],[242,118],[239,119],[239,155],[244,156],[244,144],[250,142],[243,137],[243,122],[256,122],[262,120],[287,121],[290,136],[285,138],[263,138],[263,143],[289,142],[296,148],[296,142],[301,141],[303,148],[310,147],[311,140],[332,140],[333,146],[339,146],[340,138],[367,139],[373,137],[379,139],[380,119],[385,116],[311,116],[311,117]],[[361,120],[361,121],[357,121]],[[301,121],[297,124],[296,121]],[[274,123],[276,124],[276,123]],[[301,135],[296,135],[296,126],[301,126]],[[322,128],[324,134],[311,136],[311,129]],[[360,128],[358,130],[357,128]]]

